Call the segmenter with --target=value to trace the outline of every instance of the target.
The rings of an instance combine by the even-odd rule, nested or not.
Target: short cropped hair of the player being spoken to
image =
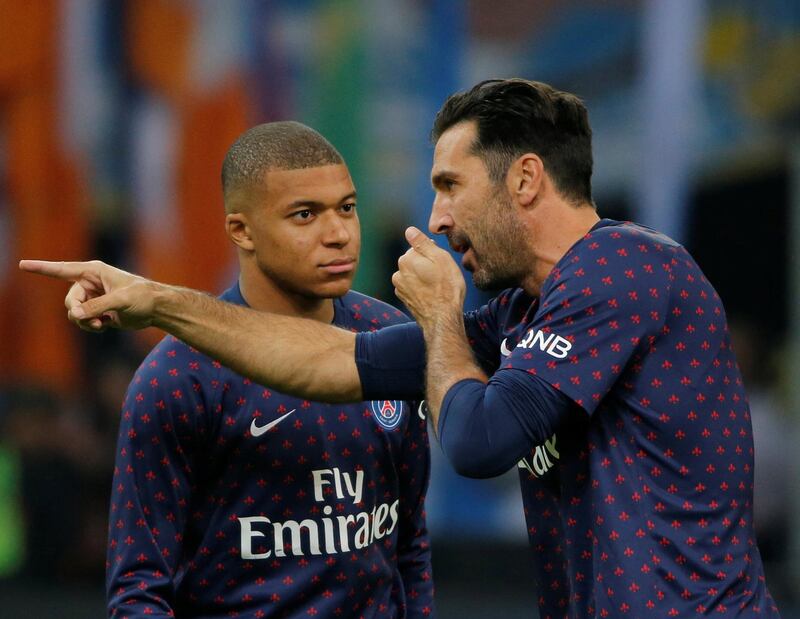
[[[222,195],[263,186],[268,170],[299,170],[344,163],[339,151],[322,134],[302,123],[281,121],[256,125],[228,149],[222,164]]]

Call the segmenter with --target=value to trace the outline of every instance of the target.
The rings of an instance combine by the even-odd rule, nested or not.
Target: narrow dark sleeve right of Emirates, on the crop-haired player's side
[[[428,422],[416,403],[405,402],[409,420],[398,463],[400,504],[398,509],[397,561],[406,593],[407,617],[430,618],[433,604],[431,545],[425,515],[425,494],[430,479],[431,457]]]

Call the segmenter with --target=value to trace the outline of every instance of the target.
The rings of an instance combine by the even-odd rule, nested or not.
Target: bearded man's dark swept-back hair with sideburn
[[[542,82],[486,80],[444,102],[431,139],[435,143],[450,127],[471,120],[478,126],[472,152],[493,182],[505,179],[517,157],[536,153],[559,193],[592,203],[592,129],[578,97]]]

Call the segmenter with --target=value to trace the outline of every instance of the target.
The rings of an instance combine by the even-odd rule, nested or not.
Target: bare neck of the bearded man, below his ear
[[[573,206],[553,200],[537,205],[528,222],[533,268],[522,288],[532,296],[539,296],[553,267],[598,221],[597,211],[589,204]]]

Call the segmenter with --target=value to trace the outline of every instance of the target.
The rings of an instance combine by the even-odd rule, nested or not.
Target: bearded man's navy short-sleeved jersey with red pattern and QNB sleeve
[[[538,300],[506,291],[466,325],[489,370],[580,407],[519,467],[543,619],[778,616],[725,312],[683,247],[602,220]]]

